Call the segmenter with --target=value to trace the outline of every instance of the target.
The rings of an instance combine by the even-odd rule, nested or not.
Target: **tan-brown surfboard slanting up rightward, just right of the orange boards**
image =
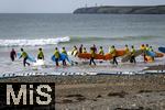
[[[143,51],[142,51],[142,50],[136,50],[136,51],[135,51],[135,57],[140,56],[141,54],[143,54]],[[121,59],[121,62],[122,62],[122,63],[129,62],[130,58],[131,58],[131,54],[127,54],[127,55]]]

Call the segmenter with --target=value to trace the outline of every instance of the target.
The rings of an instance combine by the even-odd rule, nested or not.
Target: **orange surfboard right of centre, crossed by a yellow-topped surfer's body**
[[[124,50],[121,50],[121,51],[117,51],[117,57],[120,57],[120,56],[123,56],[125,55],[125,51]],[[112,55],[111,54],[106,54],[105,55],[105,61],[109,61],[109,59],[112,59]]]

